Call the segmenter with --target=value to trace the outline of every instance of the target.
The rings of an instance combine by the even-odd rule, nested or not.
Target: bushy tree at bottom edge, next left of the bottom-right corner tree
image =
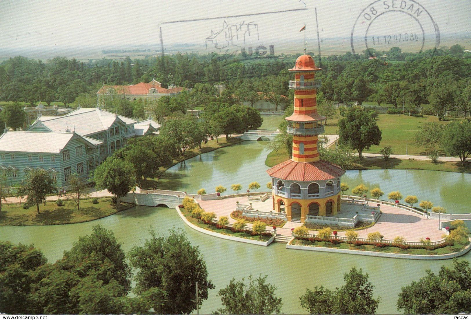
[[[374,299],[368,274],[352,268],[343,279],[345,285],[333,291],[322,286],[306,289],[300,297],[301,307],[310,314],[375,314],[381,298]]]

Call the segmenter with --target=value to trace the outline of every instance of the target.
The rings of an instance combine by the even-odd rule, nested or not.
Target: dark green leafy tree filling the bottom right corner
[[[405,314],[459,314],[471,312],[471,270],[466,260],[453,260],[453,268],[442,266],[401,288],[398,311]]]

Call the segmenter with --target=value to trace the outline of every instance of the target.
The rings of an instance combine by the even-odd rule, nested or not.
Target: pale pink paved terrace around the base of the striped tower
[[[235,197],[222,200],[199,200],[198,203],[203,210],[216,213],[218,218],[228,216],[229,222],[233,223],[235,220],[230,217],[230,214],[235,210],[237,201],[241,204],[252,202],[254,209],[260,209],[260,211],[271,210],[270,199],[257,203],[249,201],[247,197]],[[369,205],[375,206],[376,204],[369,203]],[[386,240],[401,236],[408,241],[420,241],[421,238],[427,237],[434,241],[441,239],[442,235],[445,234],[445,230],[438,229],[439,222],[437,220],[425,219],[415,213],[389,205],[382,205],[381,211],[382,215],[373,227],[357,231],[359,238],[366,238],[368,233],[379,231]],[[247,225],[251,226],[250,223]],[[301,223],[287,222],[283,228],[277,228],[276,231],[278,234],[289,236],[291,235],[291,228],[300,225]],[[267,229],[272,230],[271,227],[267,227]],[[339,231],[339,236],[343,235],[345,235],[345,232]]]

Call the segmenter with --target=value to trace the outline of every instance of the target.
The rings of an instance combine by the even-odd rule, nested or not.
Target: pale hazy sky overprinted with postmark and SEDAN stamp
[[[380,1],[376,5],[382,6],[383,2],[392,5],[392,1]],[[394,1],[396,5],[400,5],[400,0]],[[407,0],[406,5],[409,6],[411,1]],[[371,2],[373,0],[0,0],[0,47],[105,48],[157,44],[160,41],[159,26],[162,27],[166,45],[174,43],[205,45],[206,38],[212,34],[211,31],[215,33],[221,30],[224,21],[228,25],[252,22],[258,31],[256,40],[253,39],[252,33],[252,40],[267,47],[277,41],[294,40],[302,43],[304,33],[300,33],[299,30],[304,24],[308,39],[315,39],[317,36],[314,8],[317,8],[321,38],[349,38],[358,15]],[[442,37],[453,33],[471,34],[470,0],[417,0],[416,2],[420,2],[439,25]],[[301,8],[307,10],[165,23]],[[432,33],[433,28],[431,24],[428,25],[430,19],[424,18],[425,15],[423,13],[420,17],[422,25],[425,25],[424,32]],[[379,17],[369,31],[371,34],[373,29],[378,35],[391,33],[392,29],[398,29],[397,33],[420,31],[417,21],[398,12]],[[426,45],[432,46],[431,42]]]

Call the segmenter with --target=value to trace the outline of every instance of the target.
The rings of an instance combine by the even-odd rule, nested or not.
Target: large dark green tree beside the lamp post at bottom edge
[[[167,293],[162,306],[164,314],[188,314],[196,303],[201,306],[214,285],[208,280],[203,255],[192,246],[182,230],[170,230],[167,237],[146,239],[144,246],[133,247],[129,253],[131,266],[137,269],[135,293],[159,288]]]

